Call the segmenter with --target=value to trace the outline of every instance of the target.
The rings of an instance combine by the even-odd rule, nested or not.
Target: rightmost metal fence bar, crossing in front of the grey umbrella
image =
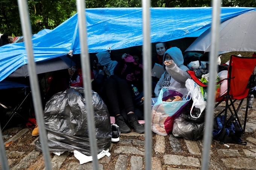
[[[212,130],[213,130],[213,109],[215,104],[215,86],[216,86],[216,70],[219,48],[219,25],[220,25],[220,6],[221,0],[212,0],[212,26],[211,26],[211,51],[210,51],[210,68],[209,68],[209,86],[207,97],[207,112],[205,117],[204,129],[204,146],[202,155],[202,170],[208,170],[209,157],[212,143]]]

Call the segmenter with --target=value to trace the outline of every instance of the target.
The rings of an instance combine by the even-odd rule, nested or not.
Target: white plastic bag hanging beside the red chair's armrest
[[[192,100],[193,100],[193,104],[192,104],[192,107],[191,107],[191,110],[190,110],[190,115],[193,118],[198,118],[198,117],[201,116],[203,110],[206,108],[206,101],[204,101],[203,95],[202,95],[201,90],[200,90],[200,86],[198,86],[198,84],[195,83],[194,80],[187,79],[186,80],[186,87],[190,91],[191,97],[192,97]],[[198,117],[192,116],[192,110],[193,110],[194,107],[200,108],[200,114],[199,114]]]

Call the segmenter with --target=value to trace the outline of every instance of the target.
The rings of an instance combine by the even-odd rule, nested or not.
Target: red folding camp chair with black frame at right
[[[242,105],[242,102],[245,98],[247,98],[248,93],[250,91],[250,87],[248,87],[248,82],[250,77],[253,73],[253,69],[256,66],[256,58],[252,57],[239,57],[232,55],[229,61],[229,68],[228,68],[228,76],[226,79],[228,86],[227,86],[227,93],[220,96],[216,99],[218,102],[215,105],[215,108],[222,102],[226,102],[226,107],[222,110],[219,114],[225,112],[224,116],[224,125],[227,121],[227,109],[229,109],[232,116],[235,116],[240,128],[242,128],[241,122],[238,118],[238,111]],[[207,87],[207,84],[202,83],[197,77],[195,77],[194,71],[187,71],[190,74],[190,77],[197,83],[199,86]],[[221,81],[224,81],[221,80]],[[217,82],[220,83],[221,81]],[[234,102],[237,100],[241,100],[238,108],[235,108]],[[229,104],[230,101],[230,104]],[[247,102],[248,103],[248,102]],[[247,113],[248,113],[248,104],[245,110],[245,119],[244,119],[244,127],[242,131],[245,131],[246,120],[247,120]]]

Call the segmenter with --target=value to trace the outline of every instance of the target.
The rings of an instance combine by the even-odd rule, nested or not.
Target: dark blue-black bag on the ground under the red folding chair
[[[238,122],[235,117],[230,116],[224,126],[224,115],[218,115],[213,122],[213,139],[218,140],[220,143],[237,143],[246,145],[240,137],[242,134],[242,128],[239,128]]]

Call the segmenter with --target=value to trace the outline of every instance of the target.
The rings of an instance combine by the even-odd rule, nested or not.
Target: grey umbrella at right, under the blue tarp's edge
[[[220,25],[219,51],[256,51],[256,11],[247,12],[224,21]],[[186,51],[209,52],[210,28],[200,35]]]

